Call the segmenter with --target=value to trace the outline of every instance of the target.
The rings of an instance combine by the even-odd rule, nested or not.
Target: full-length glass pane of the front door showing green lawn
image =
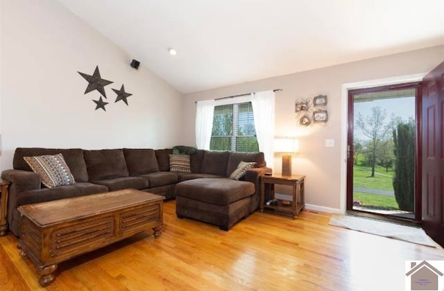
[[[353,96],[353,210],[415,218],[415,94]]]

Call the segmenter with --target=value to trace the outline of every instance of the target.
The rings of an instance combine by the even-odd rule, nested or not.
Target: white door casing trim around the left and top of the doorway
[[[345,214],[347,210],[348,91],[352,89],[379,87],[407,82],[420,82],[425,75],[427,75],[427,72],[395,76],[391,78],[350,82],[341,85],[341,200],[339,201],[339,213]]]

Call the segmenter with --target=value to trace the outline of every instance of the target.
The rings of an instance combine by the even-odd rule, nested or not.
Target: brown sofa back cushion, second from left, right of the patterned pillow
[[[128,177],[129,175],[122,149],[85,150],[83,155],[89,181]]]

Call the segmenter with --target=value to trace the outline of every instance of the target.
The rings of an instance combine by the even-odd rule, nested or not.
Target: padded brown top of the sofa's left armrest
[[[28,190],[37,190],[42,187],[42,178],[37,173],[28,170],[3,170],[1,178],[11,182],[10,195]]]

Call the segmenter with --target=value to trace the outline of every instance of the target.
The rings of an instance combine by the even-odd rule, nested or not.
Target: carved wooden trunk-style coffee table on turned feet
[[[153,229],[160,236],[165,197],[135,189],[19,206],[20,256],[37,266],[42,287],[57,264]]]

